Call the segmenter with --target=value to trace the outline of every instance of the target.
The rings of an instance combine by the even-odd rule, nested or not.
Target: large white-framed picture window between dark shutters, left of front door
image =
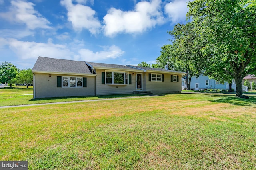
[[[106,84],[128,84],[128,73],[106,72]]]

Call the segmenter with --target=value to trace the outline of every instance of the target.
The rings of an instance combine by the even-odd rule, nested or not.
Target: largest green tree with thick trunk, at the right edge
[[[244,76],[256,73],[256,0],[194,0],[188,7],[187,16],[207,42],[204,57],[219,65],[216,73],[234,78],[236,96],[242,96]]]

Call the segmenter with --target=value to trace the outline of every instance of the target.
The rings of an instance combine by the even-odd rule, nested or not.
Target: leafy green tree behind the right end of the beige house
[[[204,70],[205,59],[200,51],[204,40],[196,34],[194,25],[190,22],[186,25],[178,23],[168,33],[173,37],[172,45],[162,47],[156,62],[160,65],[168,64],[170,70],[186,72],[187,89],[190,90],[191,78]]]

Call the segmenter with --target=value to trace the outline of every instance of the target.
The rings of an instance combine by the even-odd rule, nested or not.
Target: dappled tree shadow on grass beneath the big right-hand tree
[[[256,107],[256,96],[249,96],[249,99],[236,98],[234,94],[222,95],[222,94],[206,94],[208,97],[213,97],[211,102],[228,103],[238,106],[251,106]]]

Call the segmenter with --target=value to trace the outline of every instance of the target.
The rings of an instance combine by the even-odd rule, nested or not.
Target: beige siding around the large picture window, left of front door
[[[134,73],[132,76],[132,84],[127,85],[110,85],[110,84],[101,84],[101,72],[105,70],[97,70],[96,76],[96,95],[104,94],[132,94],[136,89],[136,72],[129,72],[129,74]]]

